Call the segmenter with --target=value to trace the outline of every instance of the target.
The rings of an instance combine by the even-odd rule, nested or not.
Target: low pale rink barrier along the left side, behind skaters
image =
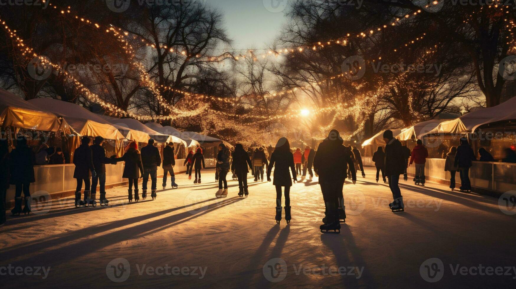
[[[186,166],[183,166],[184,162],[185,159],[175,160],[174,173],[186,172]],[[208,167],[208,164],[206,164],[206,167]],[[30,194],[34,195],[38,191],[44,191],[50,194],[53,200],[74,196],[77,187],[77,180],[73,178],[74,170],[75,165],[73,164],[35,166],[34,176],[36,182],[30,184]],[[106,165],[106,190],[128,184],[127,179],[122,179],[123,171],[123,162],[117,163],[116,165]],[[158,178],[162,177],[163,168],[159,167]],[[97,187],[97,197],[99,193],[99,187]],[[7,190],[7,207],[14,206],[14,195],[14,185],[10,185]]]

